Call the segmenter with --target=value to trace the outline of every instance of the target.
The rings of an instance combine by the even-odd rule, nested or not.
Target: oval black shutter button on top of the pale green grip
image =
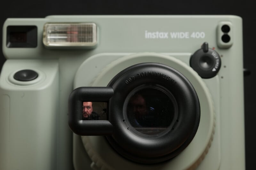
[[[16,72],[13,76],[15,80],[18,81],[32,81],[38,77],[38,74],[34,70],[20,70]]]

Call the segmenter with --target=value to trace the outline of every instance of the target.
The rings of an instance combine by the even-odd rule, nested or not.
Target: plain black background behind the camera
[[[243,18],[244,68],[251,71],[250,76],[244,77],[246,170],[255,169],[255,10],[254,0],[2,1],[0,68],[5,61],[2,53],[2,26],[6,18],[44,18],[48,15],[238,15]]]

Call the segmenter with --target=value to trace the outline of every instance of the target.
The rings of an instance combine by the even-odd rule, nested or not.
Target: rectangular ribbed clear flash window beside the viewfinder
[[[46,23],[43,43],[48,48],[94,48],[97,26],[95,23]]]

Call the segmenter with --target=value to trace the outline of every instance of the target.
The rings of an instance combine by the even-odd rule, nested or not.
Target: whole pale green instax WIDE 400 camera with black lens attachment
[[[7,19],[0,169],[244,169],[242,39],[237,16]]]

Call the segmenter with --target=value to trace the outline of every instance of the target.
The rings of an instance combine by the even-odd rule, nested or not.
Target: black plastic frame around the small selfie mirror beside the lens
[[[111,135],[113,126],[108,120],[82,120],[84,101],[104,101],[113,96],[112,87],[78,87],[68,98],[68,125],[81,136]]]

